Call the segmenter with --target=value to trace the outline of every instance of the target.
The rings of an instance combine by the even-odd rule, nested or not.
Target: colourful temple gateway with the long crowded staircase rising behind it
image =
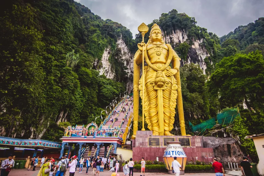
[[[125,96],[111,113],[99,125],[92,122],[88,125],[68,126],[62,140],[60,156],[77,155],[78,159],[88,156],[109,156],[117,154],[118,148],[125,144],[133,119],[133,98]],[[74,146],[74,153],[71,148]],[[64,150],[68,151],[64,151]]]

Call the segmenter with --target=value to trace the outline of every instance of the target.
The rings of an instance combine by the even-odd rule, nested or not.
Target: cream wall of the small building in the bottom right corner
[[[264,136],[253,138],[257,154],[259,156],[259,164],[257,165],[259,175],[264,176]]]

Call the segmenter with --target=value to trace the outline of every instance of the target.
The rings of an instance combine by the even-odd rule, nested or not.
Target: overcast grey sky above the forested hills
[[[75,0],[102,19],[111,19],[133,33],[144,22],[150,24],[162,13],[176,9],[195,17],[197,25],[219,37],[237,26],[264,17],[264,0]]]

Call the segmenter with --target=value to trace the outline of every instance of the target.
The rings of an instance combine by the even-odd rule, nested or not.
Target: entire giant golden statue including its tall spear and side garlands
[[[144,35],[148,31],[148,27],[142,23],[138,29],[144,41]],[[162,32],[157,24],[152,26],[148,42],[145,44],[143,41],[137,44],[138,50],[134,56],[134,124],[132,139],[135,139],[138,129],[139,91],[140,97],[143,99],[142,123],[144,123],[145,114],[147,127],[153,131],[153,135],[172,136],[170,131],[173,129],[177,101],[181,134],[185,136],[179,73],[180,58],[170,44],[164,43]],[[147,66],[143,67],[144,72],[139,79],[140,65],[144,59]],[[173,68],[169,66],[170,63]],[[142,131],[144,130],[143,125]]]

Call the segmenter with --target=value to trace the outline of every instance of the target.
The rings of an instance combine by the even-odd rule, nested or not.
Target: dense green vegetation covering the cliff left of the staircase
[[[121,24],[73,0],[16,0],[0,8],[1,135],[58,141],[57,124],[87,124],[125,91],[117,40],[130,49],[134,40]],[[108,46],[120,82],[92,69]]]

